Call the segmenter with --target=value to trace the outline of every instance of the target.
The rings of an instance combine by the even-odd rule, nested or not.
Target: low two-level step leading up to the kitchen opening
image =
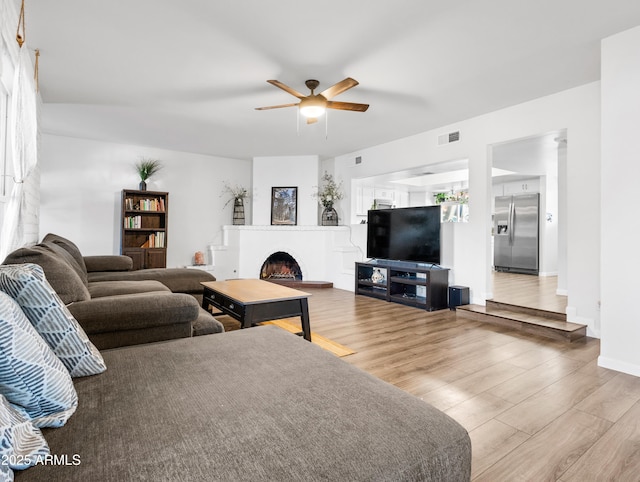
[[[587,335],[587,326],[565,321],[566,315],[535,308],[487,301],[486,306],[458,306],[456,316],[507,326],[549,338],[576,341]]]

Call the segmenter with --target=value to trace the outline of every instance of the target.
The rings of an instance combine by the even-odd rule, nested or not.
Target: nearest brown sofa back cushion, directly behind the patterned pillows
[[[73,267],[52,248],[36,245],[20,248],[9,255],[3,264],[33,263],[42,267],[47,281],[58,293],[65,305],[74,301],[86,301],[91,298],[89,290]]]

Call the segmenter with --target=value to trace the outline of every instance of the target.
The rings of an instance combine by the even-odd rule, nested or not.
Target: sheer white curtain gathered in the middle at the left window
[[[24,185],[38,162],[36,91],[26,45],[18,54],[8,124],[8,154],[13,163],[14,184],[0,233],[0,262],[23,244],[23,224],[27,209]]]

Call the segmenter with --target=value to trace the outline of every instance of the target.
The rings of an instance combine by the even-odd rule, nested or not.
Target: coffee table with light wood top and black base
[[[241,328],[256,323],[299,316],[302,335],[311,341],[309,303],[304,291],[259,279],[234,279],[203,282],[202,307],[215,308],[240,322]]]

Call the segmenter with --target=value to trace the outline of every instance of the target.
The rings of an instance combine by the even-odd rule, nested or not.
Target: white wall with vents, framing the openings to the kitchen
[[[594,82],[455,125],[424,132],[335,159],[344,185],[352,179],[456,159],[469,159],[470,222],[454,226],[452,281],[469,286],[473,303],[492,296],[489,146],[567,129],[567,315],[599,336],[600,319],[600,84]],[[460,142],[438,146],[440,134],[460,131]],[[362,162],[355,164],[355,157]],[[393,165],[393,169],[390,169]],[[444,249],[444,247],[443,247]]]

